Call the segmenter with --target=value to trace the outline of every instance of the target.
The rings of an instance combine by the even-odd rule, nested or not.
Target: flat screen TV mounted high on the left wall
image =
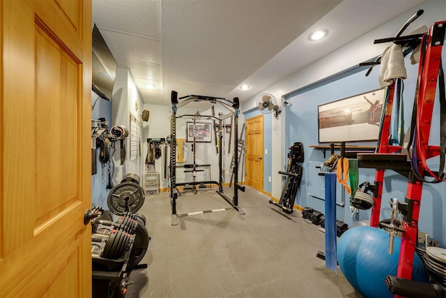
[[[110,52],[95,24],[93,25],[92,52],[93,91],[106,100],[112,100],[113,84],[118,64],[116,64],[112,52]]]

